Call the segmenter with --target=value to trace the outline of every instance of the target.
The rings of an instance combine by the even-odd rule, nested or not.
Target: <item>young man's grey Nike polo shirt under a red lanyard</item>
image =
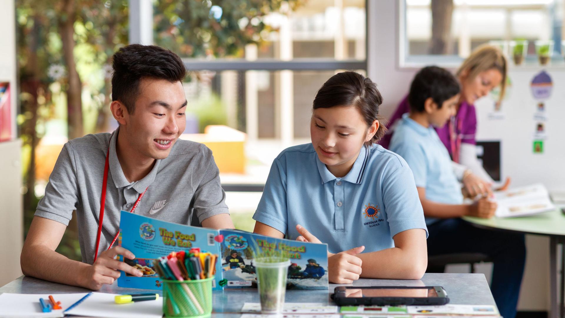
[[[119,128],[118,128],[119,130]],[[76,138],[63,147],[45,196],[35,215],[68,225],[76,210],[82,261],[92,264],[98,230],[102,180],[110,145],[110,169],[99,252],[105,251],[119,231],[120,210],[131,210],[147,188],[134,213],[159,220],[190,224],[196,213],[202,222],[229,213],[220,186],[218,166],[205,145],[178,139],[171,153],[157,160],[145,178],[128,182],[116,155],[118,130]]]

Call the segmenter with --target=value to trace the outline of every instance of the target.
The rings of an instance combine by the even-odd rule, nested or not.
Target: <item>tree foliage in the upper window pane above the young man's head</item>
[[[181,57],[242,57],[245,45],[261,44],[274,31],[264,23],[267,14],[302,1],[161,0],[154,5],[155,43]]]

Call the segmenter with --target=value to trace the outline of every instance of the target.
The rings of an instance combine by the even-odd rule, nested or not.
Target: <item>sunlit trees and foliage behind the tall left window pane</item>
[[[127,0],[99,2],[76,1],[74,16],[64,13],[62,1],[17,0],[16,1],[16,45],[21,105],[18,124],[24,141],[22,160],[27,165],[23,178],[28,187],[24,196],[25,234],[31,224],[38,200],[34,195],[35,167],[31,166],[32,149],[46,133],[47,122],[53,119],[63,123],[67,117],[66,94],[67,70],[64,66],[63,44],[59,22],[62,19],[75,21],[75,50],[73,55],[77,71],[85,91],[83,97],[84,122],[93,132],[97,124],[98,111],[107,107],[107,82],[103,66],[114,50],[127,44]],[[53,76],[53,66],[59,66]],[[62,129],[66,131],[66,129]],[[76,218],[67,227],[57,252],[73,260],[81,260]]]

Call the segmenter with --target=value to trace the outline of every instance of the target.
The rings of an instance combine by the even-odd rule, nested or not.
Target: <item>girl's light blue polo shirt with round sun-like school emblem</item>
[[[345,177],[336,178],[312,144],[290,147],[273,161],[254,220],[296,239],[300,224],[332,253],[394,247],[393,237],[424,229],[412,171],[380,145],[362,147]]]

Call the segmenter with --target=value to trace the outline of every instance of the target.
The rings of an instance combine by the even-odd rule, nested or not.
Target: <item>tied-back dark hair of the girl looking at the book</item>
[[[314,98],[314,109],[332,108],[334,106],[355,106],[370,126],[375,119],[379,121],[379,129],[367,145],[376,143],[386,134],[385,118],[379,115],[379,106],[383,104],[383,96],[377,85],[369,78],[356,72],[341,72],[333,75],[321,86]]]

